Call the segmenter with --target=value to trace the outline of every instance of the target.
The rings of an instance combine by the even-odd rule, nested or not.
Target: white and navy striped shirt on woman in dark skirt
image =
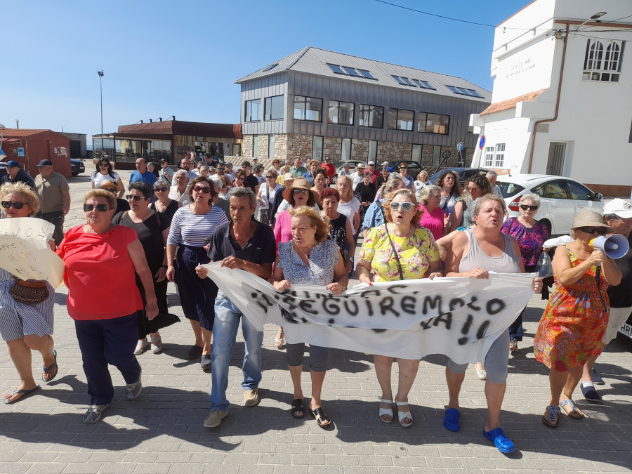
[[[212,206],[206,214],[194,214],[189,206],[180,207],[171,220],[167,245],[204,246],[206,237],[211,237],[218,225],[227,222],[226,213],[218,206]]]

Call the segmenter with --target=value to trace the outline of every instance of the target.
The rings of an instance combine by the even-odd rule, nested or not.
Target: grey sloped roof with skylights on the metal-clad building
[[[334,65],[334,69],[336,69],[335,66],[346,66],[350,69],[350,73],[347,74],[344,70],[338,70],[338,72],[343,73],[337,74],[329,65]],[[357,72],[358,70],[368,71],[373,79],[363,76],[361,72]],[[261,77],[270,77],[284,71],[303,72],[305,74],[335,77],[336,79],[355,81],[363,84],[375,84],[400,89],[404,88],[406,90],[416,89],[417,91],[423,91],[429,94],[467,98],[477,102],[491,102],[492,100],[491,92],[471,83],[470,81],[466,81],[466,79],[463,79],[462,77],[449,76],[448,74],[440,74],[438,72],[415,69],[414,67],[390,64],[389,62],[382,62],[373,59],[359,58],[357,56],[336,53],[335,51],[327,51],[325,49],[314,48],[312,46],[307,46],[300,51],[296,51],[296,53],[291,53],[291,55],[288,55],[285,58],[270,62],[260,70],[253,72],[252,74],[248,74],[241,79],[237,79],[235,83],[243,84],[244,82],[259,79]],[[398,81],[394,76],[408,80]],[[416,79],[419,82],[426,81],[432,88],[426,88],[425,86],[420,85],[419,82],[413,81],[413,79]],[[423,82],[421,84],[423,84]],[[463,93],[455,93],[447,86],[452,86],[453,88],[463,88],[465,91],[462,91]],[[476,93],[478,93],[481,97],[469,94],[466,91],[476,91]]]

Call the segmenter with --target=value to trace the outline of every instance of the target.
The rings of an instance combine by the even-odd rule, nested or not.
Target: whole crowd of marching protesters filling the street
[[[520,216],[506,218],[495,173],[473,176],[462,189],[452,170],[441,173],[433,184],[427,171],[416,179],[409,176],[405,162],[398,172],[388,162],[381,169],[374,162],[367,164],[368,169],[360,162],[354,173],[341,170],[334,184],[336,169],[330,159],[312,159],[307,167],[301,158],[287,164],[274,160],[268,170],[257,162],[252,159],[233,170],[232,164],[210,155],[197,164],[187,154],[173,172],[166,162],[156,169],[139,158],[125,188],[109,160],[100,159],[91,175],[93,189],[83,199],[85,223],[65,234],[69,187],[51,162],[40,162],[33,183],[11,181],[0,187],[6,218],[37,216],[55,226],[49,244],[65,265],[67,310],[74,320],[91,397],[84,423],[96,423],[112,402],[108,364],[121,371],[126,399],[138,397],[142,367],[136,356],[147,350],[160,353],[160,329],[179,321],[169,312],[167,282],[176,283],[190,322],[187,358],[199,360],[201,369],[212,373],[211,412],[204,426],[220,426],[228,416],[229,362],[239,324],[245,340],[244,405],[260,402],[263,331],[218,290],[200,264],[220,262],[225,268],[244,270],[277,291],[317,285],[340,295],[354,271],[367,284],[535,272],[549,237],[536,220],[538,195],[523,195]],[[555,288],[534,338],[536,359],[550,370],[551,400],[542,416],[548,426],[558,426],[562,412],[574,419],[584,416],[572,400],[580,381],[586,400],[600,400],[595,389],[600,377],[593,364],[632,312],[632,272],[630,257],[615,261],[593,249],[591,239],[616,232],[629,240],[631,230],[632,205],[614,199],[603,216],[591,211],[575,216],[572,242],[555,250]],[[359,258],[354,261],[360,237]],[[44,383],[58,374],[52,338],[54,289],[47,282],[16,281],[6,270],[0,270],[0,283],[0,334],[20,377],[18,388],[4,399],[12,404],[40,388],[31,369],[33,350],[41,353]],[[18,298],[20,285],[37,297]],[[532,289],[542,291],[540,277],[532,279]],[[104,294],[118,297],[104,299]],[[515,449],[501,427],[501,404],[509,353],[518,350],[522,337],[520,313],[476,367],[485,380],[483,434],[503,453]],[[275,343],[287,353],[294,386],[291,416],[309,413],[318,426],[331,426],[334,421],[325,412],[321,395],[332,348],[308,348],[311,398],[305,404],[305,342],[285,341],[279,328]],[[374,355],[381,387],[377,415],[391,423],[396,410],[400,425],[410,427],[414,420],[408,399],[420,361],[397,358],[395,392],[393,362],[393,357]],[[447,362],[443,426],[450,431],[460,430],[459,393],[467,367]]]

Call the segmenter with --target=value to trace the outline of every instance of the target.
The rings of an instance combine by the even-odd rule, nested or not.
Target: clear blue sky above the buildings
[[[388,0],[497,25],[528,0]],[[88,136],[139,120],[239,123],[236,79],[304,46],[454,74],[488,90],[494,29],[375,0],[2,2],[0,124]],[[89,141],[89,138],[88,138]]]

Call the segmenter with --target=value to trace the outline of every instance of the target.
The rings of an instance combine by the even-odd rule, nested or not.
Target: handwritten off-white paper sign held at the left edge
[[[62,284],[64,262],[46,239],[55,226],[44,219],[16,217],[0,220],[0,268],[20,279],[45,279]]]

